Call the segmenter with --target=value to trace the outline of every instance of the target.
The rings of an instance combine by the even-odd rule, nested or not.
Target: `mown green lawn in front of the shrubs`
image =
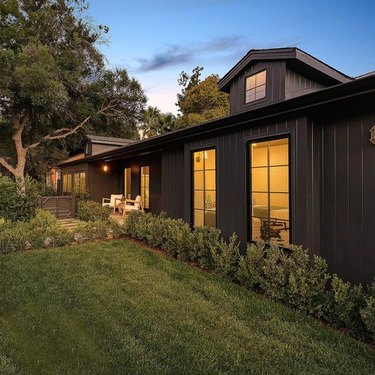
[[[314,319],[126,241],[0,256],[0,374],[374,374]]]

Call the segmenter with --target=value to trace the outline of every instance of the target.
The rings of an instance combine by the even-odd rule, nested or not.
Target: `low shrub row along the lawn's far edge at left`
[[[122,227],[111,220],[81,223],[69,230],[58,225],[51,213],[37,209],[29,222],[0,219],[0,254],[118,238],[122,233]]]

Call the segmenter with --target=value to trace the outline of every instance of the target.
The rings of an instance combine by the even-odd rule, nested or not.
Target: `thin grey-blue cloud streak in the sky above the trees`
[[[227,53],[236,49],[243,41],[244,38],[241,36],[232,36],[215,38],[189,47],[170,46],[150,58],[138,59],[140,65],[137,70],[146,73],[192,61],[197,55],[205,53]]]

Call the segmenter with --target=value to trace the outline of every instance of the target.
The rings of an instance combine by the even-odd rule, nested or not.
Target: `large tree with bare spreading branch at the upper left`
[[[106,70],[98,44],[108,28],[93,25],[87,7],[85,0],[0,3],[0,165],[21,180],[28,155],[50,141],[89,127],[136,131],[143,90],[125,70]]]

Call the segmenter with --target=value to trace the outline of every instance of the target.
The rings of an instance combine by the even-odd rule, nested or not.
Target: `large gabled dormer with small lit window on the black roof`
[[[298,48],[250,50],[220,81],[235,114],[309,94],[352,78]]]

